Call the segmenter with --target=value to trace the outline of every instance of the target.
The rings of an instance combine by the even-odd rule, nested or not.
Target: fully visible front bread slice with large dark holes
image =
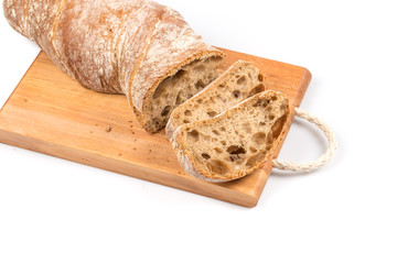
[[[172,138],[187,174],[221,183],[244,177],[272,157],[287,132],[288,98],[268,90],[215,118],[179,127]]]

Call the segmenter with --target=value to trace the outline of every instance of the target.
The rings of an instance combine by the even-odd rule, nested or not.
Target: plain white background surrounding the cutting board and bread
[[[395,1],[161,0],[210,44],[304,66],[335,158],[247,209],[0,144],[0,263],[397,263]],[[39,48],[0,18],[0,106]],[[280,158],[310,161],[297,122]]]

